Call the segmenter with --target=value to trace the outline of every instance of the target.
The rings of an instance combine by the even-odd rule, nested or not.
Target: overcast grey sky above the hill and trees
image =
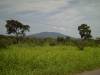
[[[0,34],[5,21],[15,19],[31,26],[29,34],[60,32],[79,37],[77,27],[86,23],[100,37],[100,0],[0,0]]]

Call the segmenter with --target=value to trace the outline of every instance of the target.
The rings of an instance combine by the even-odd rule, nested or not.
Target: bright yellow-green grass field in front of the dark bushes
[[[100,47],[14,45],[0,50],[0,75],[71,75],[100,68]]]

